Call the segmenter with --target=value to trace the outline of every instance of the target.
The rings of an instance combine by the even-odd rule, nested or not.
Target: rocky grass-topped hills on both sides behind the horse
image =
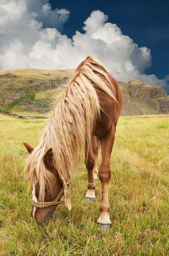
[[[74,70],[20,69],[0,72],[0,108],[23,116],[45,116]],[[119,82],[121,115],[169,114],[169,96],[141,81]]]

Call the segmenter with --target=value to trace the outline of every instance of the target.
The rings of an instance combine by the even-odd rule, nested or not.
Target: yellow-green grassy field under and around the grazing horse
[[[45,122],[0,115],[0,256],[169,254],[169,118],[119,119],[109,189],[113,226],[106,233],[96,225],[101,183],[96,202],[86,201],[83,162],[74,176],[72,211],[59,205],[44,225],[30,217],[22,142],[36,147]]]

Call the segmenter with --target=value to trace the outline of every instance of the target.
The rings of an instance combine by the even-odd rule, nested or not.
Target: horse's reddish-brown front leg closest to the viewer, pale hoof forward
[[[108,186],[110,182],[110,156],[115,139],[115,126],[112,124],[110,129],[101,138],[101,166],[99,169],[99,179],[101,181],[101,203],[100,203],[100,217],[97,221],[102,229],[107,230],[111,227],[109,217],[110,205],[108,199]]]

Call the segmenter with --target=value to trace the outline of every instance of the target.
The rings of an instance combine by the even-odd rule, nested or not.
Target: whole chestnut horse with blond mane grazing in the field
[[[62,195],[65,195],[65,207],[71,209],[68,188],[82,150],[88,174],[86,198],[95,200],[98,138],[101,142],[99,179],[102,194],[97,224],[105,229],[111,226],[110,156],[121,108],[118,82],[96,58],[88,56],[56,100],[37,148],[23,143],[30,153],[25,174],[32,190],[31,214],[37,222],[54,215],[56,206],[62,203]]]

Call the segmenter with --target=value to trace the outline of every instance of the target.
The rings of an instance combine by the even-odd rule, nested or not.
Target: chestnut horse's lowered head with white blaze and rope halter
[[[27,143],[23,143],[25,148],[28,150],[29,154],[32,154],[34,148],[32,148]],[[44,200],[40,204],[41,200],[39,200],[39,181],[37,181],[36,177],[34,177],[34,181],[32,182],[32,211],[31,215],[38,223],[42,223],[45,220],[48,220],[50,217],[54,217],[54,211],[56,209],[56,205],[54,201],[57,199],[57,202],[61,200],[63,184],[59,179],[58,172],[54,169],[53,165],[53,151],[52,148],[49,148],[48,151],[44,155],[44,164],[45,169],[47,169],[52,175],[52,182],[50,184],[45,184],[44,191]],[[59,195],[59,193],[61,194]],[[51,204],[50,204],[51,203]]]

